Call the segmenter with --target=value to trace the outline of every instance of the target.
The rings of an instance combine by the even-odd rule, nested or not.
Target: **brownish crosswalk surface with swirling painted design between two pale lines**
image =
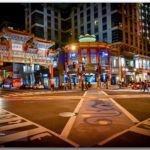
[[[84,96],[86,98],[83,98],[82,106],[67,137],[81,147],[94,146],[113,134],[135,125],[136,121],[131,120],[132,117],[127,117],[125,111],[103,91],[91,89]],[[92,100],[90,96],[99,98]]]

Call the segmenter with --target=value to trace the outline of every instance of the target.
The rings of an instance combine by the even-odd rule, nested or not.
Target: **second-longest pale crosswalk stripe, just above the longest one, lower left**
[[[32,124],[30,122],[23,122],[23,123],[17,123],[17,124],[13,124],[13,125],[2,126],[2,127],[0,127],[0,131],[6,131],[6,130],[24,127],[24,126],[28,126],[28,125],[32,125]]]

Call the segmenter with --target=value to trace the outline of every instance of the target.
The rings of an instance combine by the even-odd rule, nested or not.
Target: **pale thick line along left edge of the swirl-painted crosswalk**
[[[83,98],[81,98],[81,100],[79,101],[79,103],[78,103],[78,105],[76,106],[76,108],[75,108],[75,110],[74,110],[73,113],[76,114],[76,113],[79,112],[79,110],[80,110],[80,108],[81,108],[81,106],[82,106],[82,104],[83,104],[84,97],[85,97],[86,94],[87,94],[87,91],[84,93]],[[75,122],[75,120],[76,120],[76,117],[77,117],[77,116],[72,116],[72,117],[70,117],[69,121],[66,123],[66,125],[65,125],[65,127],[64,127],[64,129],[63,129],[63,131],[62,131],[61,134],[60,134],[61,137],[67,138],[67,137],[69,136],[69,133],[70,133],[70,131],[71,131],[71,129],[72,129],[72,126],[73,126],[73,124],[74,124],[74,122]]]

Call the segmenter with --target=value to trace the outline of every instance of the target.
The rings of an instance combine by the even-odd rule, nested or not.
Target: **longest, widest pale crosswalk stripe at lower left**
[[[21,138],[25,138],[27,136],[32,136],[32,135],[35,135],[35,134],[38,134],[38,133],[42,133],[44,131],[45,131],[44,128],[36,128],[36,129],[30,129],[30,130],[22,131],[22,132],[19,132],[19,133],[6,135],[4,137],[1,137],[0,144],[15,141],[15,140],[18,140],[18,139],[21,139]]]

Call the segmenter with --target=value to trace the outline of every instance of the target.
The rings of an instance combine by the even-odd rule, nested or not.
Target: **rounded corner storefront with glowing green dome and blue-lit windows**
[[[95,42],[94,35],[80,36],[79,43],[71,43],[65,46],[66,67],[65,72],[72,81],[80,81],[95,84],[97,79],[101,82],[110,82],[111,45]],[[95,39],[96,40],[96,39]]]

